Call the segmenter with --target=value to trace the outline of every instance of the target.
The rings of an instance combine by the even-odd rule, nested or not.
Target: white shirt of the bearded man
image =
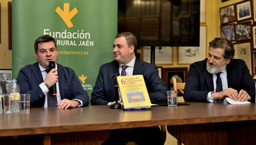
[[[225,90],[225,89],[228,88],[228,86],[227,86],[227,69],[224,69],[223,71],[221,71],[220,77],[221,77],[222,88],[223,88],[223,90]],[[216,90],[217,75],[216,74],[212,74],[212,79],[214,80],[214,90]],[[214,102],[214,100],[211,99],[211,93],[212,92],[208,93],[207,101]]]

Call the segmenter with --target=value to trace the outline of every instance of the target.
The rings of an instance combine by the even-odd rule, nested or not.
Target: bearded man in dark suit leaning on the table
[[[229,97],[255,102],[255,82],[243,60],[234,58],[234,45],[225,38],[209,43],[209,56],[189,68],[185,101],[214,102]]]

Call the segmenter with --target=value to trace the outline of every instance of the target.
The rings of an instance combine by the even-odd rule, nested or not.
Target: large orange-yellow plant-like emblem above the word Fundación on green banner
[[[61,10],[58,6],[55,11],[61,16],[68,28],[73,26],[71,19],[77,14],[77,8],[73,8],[73,10],[70,11],[70,3],[64,3],[64,10]]]

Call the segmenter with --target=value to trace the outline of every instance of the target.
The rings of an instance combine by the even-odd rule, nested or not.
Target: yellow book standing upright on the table
[[[118,76],[118,87],[123,109],[150,108],[151,101],[143,75]]]

